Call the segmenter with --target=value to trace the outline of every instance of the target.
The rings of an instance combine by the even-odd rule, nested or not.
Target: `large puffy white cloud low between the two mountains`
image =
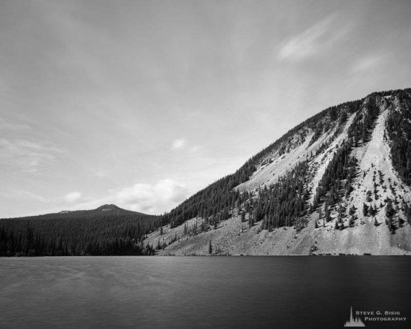
[[[116,202],[135,211],[162,213],[182,202],[188,194],[184,185],[167,178],[156,185],[135,184],[116,194]]]

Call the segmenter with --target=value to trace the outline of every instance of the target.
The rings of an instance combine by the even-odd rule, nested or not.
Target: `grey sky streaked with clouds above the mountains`
[[[411,87],[409,1],[0,0],[0,218],[170,211],[331,105]]]

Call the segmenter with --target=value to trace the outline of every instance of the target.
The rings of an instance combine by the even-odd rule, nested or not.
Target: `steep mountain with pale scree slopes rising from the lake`
[[[409,254],[411,89],[331,106],[162,216],[159,254]]]

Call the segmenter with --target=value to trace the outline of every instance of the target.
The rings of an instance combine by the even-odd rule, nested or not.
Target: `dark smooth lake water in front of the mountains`
[[[411,325],[409,257],[0,258],[0,328]],[[375,316],[376,317],[376,316]]]

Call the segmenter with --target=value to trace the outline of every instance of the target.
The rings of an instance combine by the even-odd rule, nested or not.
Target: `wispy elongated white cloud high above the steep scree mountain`
[[[290,40],[284,42],[277,53],[277,60],[302,61],[323,51],[342,36],[347,34],[349,25],[342,26],[337,30],[331,29],[334,16],[314,24],[305,32],[295,35]],[[330,34],[333,31],[333,34]]]

